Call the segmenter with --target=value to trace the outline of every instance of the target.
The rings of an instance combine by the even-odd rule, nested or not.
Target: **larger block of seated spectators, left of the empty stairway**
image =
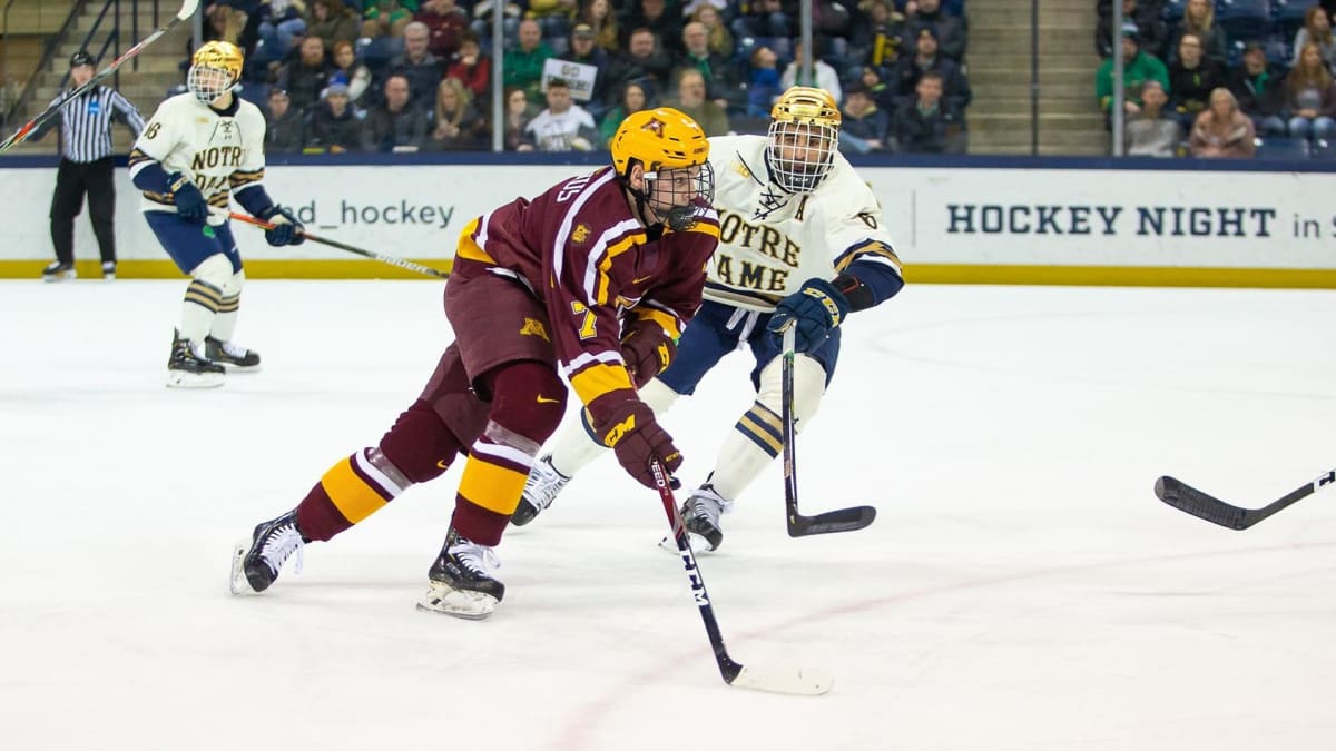
[[[218,0],[204,39],[246,53],[239,94],[271,152],[490,150],[492,61],[509,151],[607,147],[659,106],[708,135],[764,132],[784,88],[839,102],[840,148],[963,152],[963,0],[812,0],[812,68],[798,0]],[[184,69],[184,65],[183,65]]]

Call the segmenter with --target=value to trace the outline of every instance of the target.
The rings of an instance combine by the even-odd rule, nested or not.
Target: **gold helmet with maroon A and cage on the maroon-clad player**
[[[648,207],[673,231],[691,229],[715,199],[705,131],[671,107],[632,112],[612,136],[612,166],[641,210]],[[631,187],[632,160],[645,170],[645,187]]]

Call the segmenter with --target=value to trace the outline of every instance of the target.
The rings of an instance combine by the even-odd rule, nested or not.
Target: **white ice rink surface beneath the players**
[[[262,596],[231,544],[373,445],[449,342],[433,282],[247,286],[263,373],[163,388],[183,282],[0,282],[0,747],[28,750],[1328,750],[1336,294],[914,286],[851,317],[799,437],[701,556],[752,694],[715,668],[653,492],[611,458],[498,549],[486,621],[414,611],[457,465]],[[665,418],[701,481],[749,405],[737,353]],[[461,462],[462,464],[462,462]]]

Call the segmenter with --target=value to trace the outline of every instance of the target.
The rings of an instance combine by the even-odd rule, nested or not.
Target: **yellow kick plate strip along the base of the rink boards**
[[[444,258],[413,258],[417,263],[449,271]],[[0,261],[0,279],[40,279],[51,259]],[[98,261],[76,261],[80,279],[102,279]],[[162,261],[122,261],[119,279],[184,279],[176,265]],[[374,261],[265,261],[246,259],[247,279],[418,279],[437,282]],[[998,266],[973,263],[910,263],[904,278],[911,285],[1070,285],[1126,287],[1242,287],[1336,290],[1336,269],[1197,269],[1184,266]]]

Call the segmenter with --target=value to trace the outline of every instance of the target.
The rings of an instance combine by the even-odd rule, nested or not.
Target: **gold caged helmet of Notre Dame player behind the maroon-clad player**
[[[835,167],[839,106],[826,90],[795,86],[770,111],[771,175],[790,192],[812,192]]]

